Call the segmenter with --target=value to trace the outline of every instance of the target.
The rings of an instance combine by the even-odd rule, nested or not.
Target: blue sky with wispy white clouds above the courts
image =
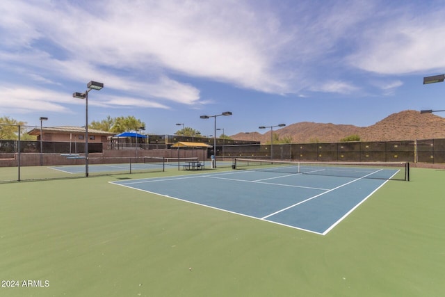
[[[296,122],[365,127],[445,109],[441,1],[0,1],[0,116],[85,125],[133,115],[225,134]],[[437,115],[441,115],[438,113]],[[442,115],[443,116],[443,115]],[[218,133],[219,134],[219,133]],[[217,135],[218,135],[217,134]]]

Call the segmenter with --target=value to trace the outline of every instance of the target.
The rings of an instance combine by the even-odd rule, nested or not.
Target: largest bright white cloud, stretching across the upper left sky
[[[48,60],[63,56],[60,62],[76,61],[67,77],[79,76],[82,65],[77,62],[82,61],[97,70],[149,72],[148,77],[161,83],[168,72],[177,72],[266,92],[288,88],[273,65],[277,44],[283,42],[280,36],[286,35],[280,22],[243,2],[107,1],[99,17],[58,2],[20,3],[20,9],[8,13],[26,19],[18,32],[24,38],[17,38],[14,26],[2,24],[14,45],[41,56],[32,45],[50,42],[55,52]]]

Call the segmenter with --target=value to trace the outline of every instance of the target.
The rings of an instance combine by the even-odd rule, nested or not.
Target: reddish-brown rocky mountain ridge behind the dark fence
[[[407,141],[415,139],[445,138],[445,118],[433,113],[401,111],[369,127],[334,125],[316,122],[299,122],[274,129],[281,138],[290,138],[292,143],[338,142],[351,135],[360,136],[361,141]],[[270,143],[270,130],[265,134],[238,133],[233,139]]]

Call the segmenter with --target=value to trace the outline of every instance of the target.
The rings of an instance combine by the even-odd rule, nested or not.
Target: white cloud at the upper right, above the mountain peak
[[[348,62],[379,74],[443,71],[445,8],[428,13],[412,9],[407,6],[407,11],[398,10],[398,15],[385,16],[385,22],[367,26],[357,40],[359,49]]]

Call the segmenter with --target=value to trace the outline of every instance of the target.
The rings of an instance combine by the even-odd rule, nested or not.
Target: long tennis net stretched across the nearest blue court
[[[409,162],[301,162],[236,158],[233,168],[289,174],[410,180]]]

